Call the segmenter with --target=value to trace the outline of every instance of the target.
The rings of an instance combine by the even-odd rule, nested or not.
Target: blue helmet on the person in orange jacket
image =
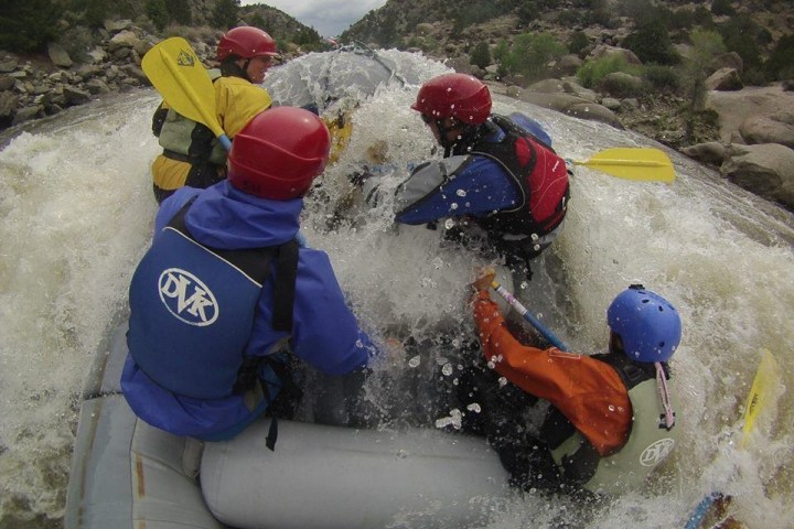
[[[632,284],[618,294],[607,322],[623,341],[625,354],[636,361],[667,361],[680,342],[680,316],[661,295]]]

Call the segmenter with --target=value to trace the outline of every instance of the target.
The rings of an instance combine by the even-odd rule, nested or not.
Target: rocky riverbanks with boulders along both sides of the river
[[[43,118],[67,107],[85,104],[104,94],[148,86],[141,57],[160,39],[131,21],[108,21],[99,45],[75,62],[57,45],[47,56],[25,57],[0,52],[0,130]],[[191,42],[196,54],[211,58],[214,43]],[[300,53],[299,51],[296,53]],[[593,53],[625,53],[620,48]],[[466,62],[468,63],[468,62]],[[449,62],[466,72],[469,65]],[[736,78],[741,65],[728,65],[710,79],[706,107],[718,117],[713,130],[701,137],[711,141],[683,144],[683,101],[673,96],[654,99],[619,98],[588,90],[570,75],[576,64],[561,65],[559,78],[521,87],[511,79],[489,80],[487,72],[472,72],[491,83],[495,91],[546,108],[594,119],[612,127],[635,130],[717,168],[722,176],[790,210],[794,210],[794,91],[785,84],[741,87]],[[625,80],[625,79],[624,79]]]

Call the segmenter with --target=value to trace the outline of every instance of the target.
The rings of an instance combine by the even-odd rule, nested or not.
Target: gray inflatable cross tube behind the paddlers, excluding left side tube
[[[212,512],[244,529],[461,528],[487,519],[507,475],[484,440],[268,421],[208,443],[201,482]]]

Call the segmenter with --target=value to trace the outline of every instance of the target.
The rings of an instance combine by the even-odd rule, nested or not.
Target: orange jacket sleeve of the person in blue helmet
[[[623,381],[611,366],[556,347],[539,349],[523,345],[505,326],[487,291],[475,295],[474,319],[483,354],[500,375],[551,402],[600,455],[611,454],[625,444],[632,406]]]

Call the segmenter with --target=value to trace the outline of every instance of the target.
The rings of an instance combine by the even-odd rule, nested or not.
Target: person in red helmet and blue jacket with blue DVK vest
[[[139,418],[230,439],[288,388],[287,352],[328,375],[362,370],[378,354],[328,255],[296,240],[329,152],[319,117],[273,108],[235,137],[227,180],[163,202],[129,291],[121,387]]]

